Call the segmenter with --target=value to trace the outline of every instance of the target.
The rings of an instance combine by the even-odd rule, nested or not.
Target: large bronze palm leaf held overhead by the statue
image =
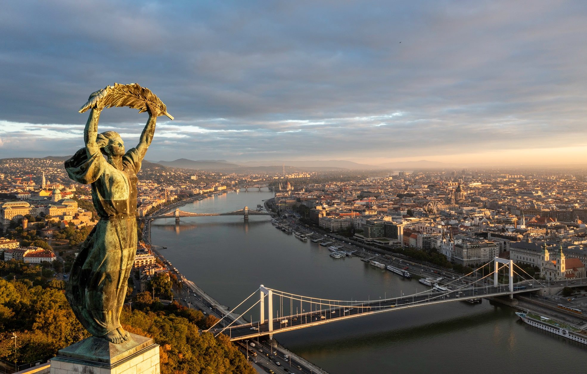
[[[114,86],[106,86],[104,89],[93,92],[87,103],[79,110],[80,113],[96,107],[109,108],[113,106],[128,106],[133,109],[139,109],[139,113],[147,112],[147,104],[152,108],[156,107],[158,114],[173,119],[171,114],[167,113],[167,107],[157,95],[150,89],[139,86],[138,83],[130,85],[120,85],[114,83]]]

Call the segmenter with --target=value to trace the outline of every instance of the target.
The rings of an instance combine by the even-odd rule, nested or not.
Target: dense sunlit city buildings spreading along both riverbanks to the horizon
[[[62,165],[60,158],[53,157],[2,160],[0,218],[4,236],[0,239],[0,248],[4,259],[2,275],[8,281],[28,282],[26,287],[62,288],[63,282],[68,281],[68,271],[80,243],[97,222],[88,188],[68,180]],[[140,240],[127,301],[147,313],[161,310],[185,315],[186,323],[198,326],[200,333],[202,328],[214,326],[224,316],[230,318],[231,313],[222,310],[226,307],[181,274],[181,268],[172,266],[151,245],[149,225],[153,220],[144,217],[173,213],[190,201],[269,188],[274,197],[265,203],[259,201],[257,211],[275,213],[273,223],[289,233],[294,231],[299,240],[316,238],[312,241],[325,242],[320,233],[328,235],[328,243],[335,243],[331,246],[336,254],[331,254],[334,258],[354,253],[367,258],[367,262],[377,259],[371,261],[372,265],[375,262],[382,267],[403,267],[397,262],[403,258],[411,262],[411,266],[405,262],[408,266],[403,267],[404,276],[409,274],[411,278],[410,271],[416,275],[420,266],[417,278],[422,279],[421,283],[433,282],[434,287],[446,290],[447,298],[454,292],[451,279],[466,279],[478,267],[490,272],[488,264],[495,257],[512,260],[525,272],[525,277],[518,274],[514,278],[517,284],[530,280],[557,286],[533,294],[541,299],[538,304],[528,295],[516,296],[517,308],[538,309],[572,323],[575,328],[578,326],[581,331],[581,324],[576,325],[577,317],[569,318],[569,314],[582,312],[585,306],[584,289],[574,288],[585,280],[587,264],[584,249],[587,228],[583,223],[587,220],[587,183],[581,170],[338,169],[308,172],[300,169],[286,172],[285,165],[282,169],[274,174],[226,173],[145,163],[139,174],[137,199]],[[337,247],[337,243],[346,245]],[[377,258],[379,255],[382,257]],[[424,271],[426,267],[428,273]],[[445,277],[434,280],[440,272]],[[507,279],[504,282],[507,283]],[[13,292],[22,291],[16,287]],[[191,296],[195,296],[194,299]],[[475,291],[471,296],[480,295]],[[6,308],[14,308],[10,306],[14,302],[11,297],[22,298],[23,295],[6,296]],[[480,298],[473,299],[480,301]],[[396,303],[399,301],[394,305]],[[15,311],[6,311],[4,323],[7,330],[19,336],[22,348],[15,352],[10,348],[11,341],[2,342],[5,368],[42,362],[56,353],[59,344],[74,342],[75,336],[77,339],[85,336],[83,329],[76,326],[77,335],[68,334],[52,348],[39,346],[34,353],[25,353],[25,347],[31,349],[38,344],[35,339],[39,336],[28,335],[26,325],[21,328],[12,325],[22,323]],[[41,311],[31,312],[38,318],[46,316]],[[129,318],[127,323],[131,324],[132,318]],[[244,320],[245,324],[250,322],[253,321]],[[34,329],[35,325],[29,328],[31,326]],[[50,332],[41,331],[37,329],[36,334],[47,333],[44,339],[55,339]],[[166,338],[161,336],[161,339],[160,345],[165,346]],[[263,343],[257,342],[259,346]],[[224,344],[231,345],[227,341]],[[250,355],[248,359],[258,368],[272,370],[279,359],[263,363],[256,349],[242,343],[234,347],[245,356]],[[177,348],[172,343],[169,349]],[[293,367],[299,367],[299,372],[321,370],[303,363],[294,352],[284,349],[276,352],[277,356],[279,354],[299,359]],[[237,362],[233,364],[244,365]],[[167,360],[161,370],[173,372],[181,365]],[[289,367],[292,367],[291,362]]]

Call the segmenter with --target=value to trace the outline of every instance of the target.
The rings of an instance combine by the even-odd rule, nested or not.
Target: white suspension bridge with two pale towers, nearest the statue
[[[479,277],[478,273],[486,265],[491,264],[491,262],[494,263],[494,270],[487,275]],[[518,273],[516,269],[521,271],[522,274]],[[502,279],[507,279],[507,284],[500,284],[500,274]],[[514,275],[518,275],[523,281],[514,283]],[[467,277],[471,276],[475,277],[473,281],[465,285],[456,286],[457,284],[462,284],[464,279],[468,279]],[[491,277],[493,277],[492,284],[489,282]],[[469,274],[448,282],[443,287],[446,291],[434,292],[431,289],[427,289],[426,291],[416,292],[411,295],[359,301],[333,300],[297,295],[261,285],[232,309],[230,314],[223,316],[207,331],[213,332],[215,336],[224,333],[230,337],[231,341],[257,338],[264,335],[269,335],[269,338],[273,338],[274,333],[329,324],[367,315],[418,308],[420,306],[503,295],[509,295],[510,298],[513,298],[514,294],[536,291],[546,286],[537,281],[537,279],[534,279],[524,269],[514,264],[512,260],[504,260],[496,257],[494,260],[487,262],[487,264],[473,270]],[[234,315],[238,315],[236,312],[237,309],[257,294],[257,292],[259,292],[257,302],[243,311],[238,318],[233,319]],[[279,298],[279,305],[277,307],[274,305],[275,298]],[[244,321],[242,316],[247,316],[248,312],[257,305],[259,305],[259,321],[246,324],[238,323],[239,321]],[[229,321],[231,322],[227,323]],[[221,322],[224,327],[215,328]]]

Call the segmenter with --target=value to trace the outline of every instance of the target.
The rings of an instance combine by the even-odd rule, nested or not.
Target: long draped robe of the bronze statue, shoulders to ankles
[[[137,176],[141,157],[129,150],[118,170],[100,151],[87,157],[85,148],[65,169],[73,180],[92,184],[92,200],[100,220],[80,245],[70,272],[66,296],[82,325],[95,336],[120,327],[120,311],[137,247]]]

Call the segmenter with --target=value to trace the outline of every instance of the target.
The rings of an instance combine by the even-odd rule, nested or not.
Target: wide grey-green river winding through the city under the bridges
[[[271,197],[266,190],[242,190],[195,201],[181,210],[254,209]],[[155,220],[151,240],[167,246],[161,254],[185,277],[231,307],[260,284],[344,300],[389,298],[424,288],[415,279],[376,269],[357,257],[332,258],[325,247],[276,230],[268,216],[251,217],[248,223],[238,216],[181,218],[178,227],[173,219]],[[257,316],[258,306],[245,318],[257,321]],[[487,300],[365,316],[275,338],[332,374],[576,372],[587,357],[587,346],[528,326],[514,309]]]

